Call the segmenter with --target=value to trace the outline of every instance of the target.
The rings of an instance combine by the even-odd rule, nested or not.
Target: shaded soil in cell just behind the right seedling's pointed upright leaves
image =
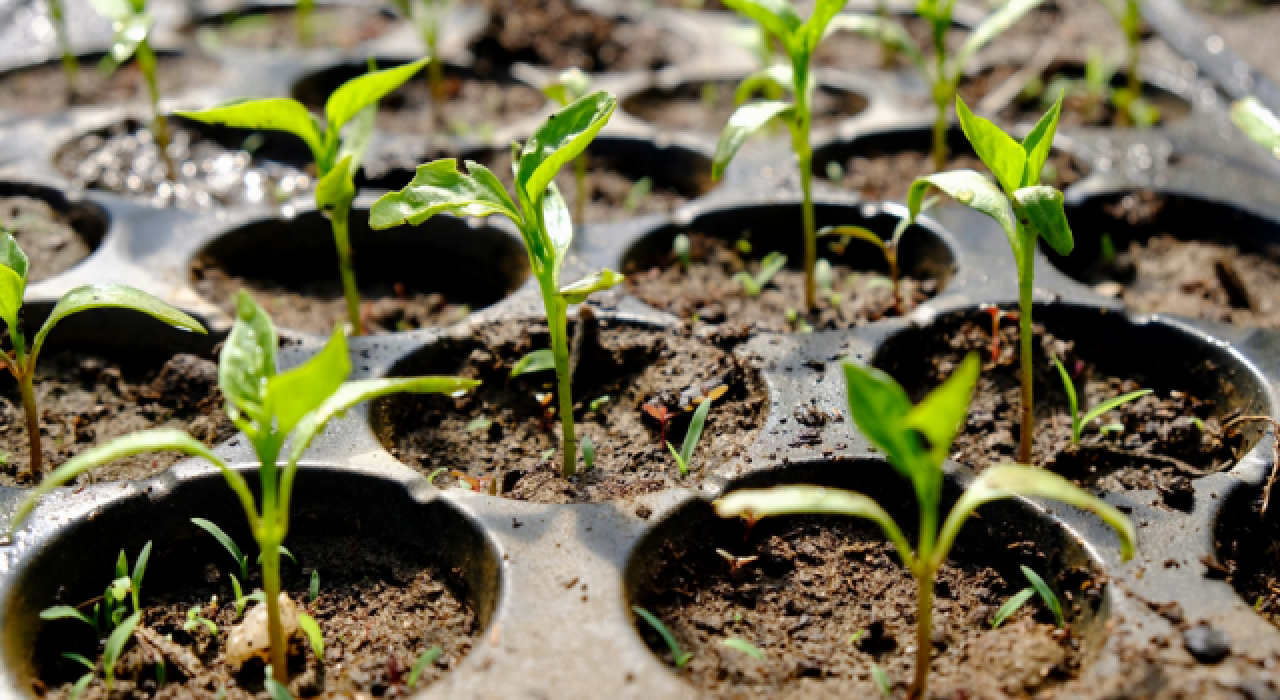
[[[838,183],[842,189],[861,193],[868,200],[905,201],[911,182],[933,174],[933,129],[918,128],[883,132],[849,142],[835,142],[814,151],[814,174]],[[948,157],[943,170],[989,173],[974,154],[964,132],[947,132]],[[1089,171],[1080,159],[1053,150],[1044,164],[1041,182],[1065,188]]]

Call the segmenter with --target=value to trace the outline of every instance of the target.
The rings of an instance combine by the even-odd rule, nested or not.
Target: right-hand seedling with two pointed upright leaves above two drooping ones
[[[1041,170],[1053,145],[1061,109],[1062,99],[1059,97],[1036,128],[1019,143],[1000,127],[975,116],[964,100],[956,97],[960,125],[978,157],[995,173],[998,186],[974,170],[952,170],[916,178],[911,183],[906,201],[909,220],[915,221],[925,192],[936,187],[957,202],[991,216],[1009,238],[1009,247],[1018,267],[1018,329],[1023,384],[1018,462],[1024,465],[1032,461],[1032,435],[1036,424],[1032,403],[1034,398],[1032,297],[1036,288],[1036,242],[1043,238],[1059,255],[1069,255],[1075,247],[1071,228],[1066,223],[1066,211],[1062,209],[1062,193],[1039,183]]]

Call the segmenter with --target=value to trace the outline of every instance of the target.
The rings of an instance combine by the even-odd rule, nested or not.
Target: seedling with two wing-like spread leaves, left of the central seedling
[[[347,298],[347,320],[356,335],[364,329],[360,319],[360,288],[351,259],[351,202],[356,198],[356,170],[365,157],[378,116],[378,101],[413,77],[426,59],[385,70],[371,70],[333,91],[324,106],[324,119],[288,97],[242,100],[202,111],[179,111],[187,119],[223,124],[236,129],[288,132],[311,151],[320,179],[316,183],[316,209],[329,216],[333,242],[338,251],[338,274]]]

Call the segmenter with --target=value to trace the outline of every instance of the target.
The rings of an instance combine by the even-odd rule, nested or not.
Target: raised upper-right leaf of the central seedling
[[[541,202],[543,192],[566,163],[586,150],[609,122],[618,99],[600,91],[588,95],[547,118],[520,151],[517,187],[530,203]]]

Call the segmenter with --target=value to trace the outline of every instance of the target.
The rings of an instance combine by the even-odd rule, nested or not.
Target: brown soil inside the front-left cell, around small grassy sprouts
[[[465,601],[465,582],[456,572],[442,571],[433,555],[362,536],[291,537],[285,544],[301,566],[282,557],[284,591],[298,612],[320,624],[325,649],[320,667],[301,633],[292,640],[293,697],[406,696],[410,669],[424,651],[440,646],[443,654],[425,668],[415,690],[454,668],[471,650],[477,624]],[[120,656],[111,697],[268,696],[262,662],[251,659],[236,669],[225,659],[228,636],[237,622],[228,575],[239,572],[228,566],[225,552],[209,552],[212,555],[207,562],[184,562],[187,568],[161,573],[169,578],[163,584],[154,582],[154,572],[164,558],[152,557],[142,587],[145,623]],[[251,568],[253,580],[244,586],[246,593],[261,586],[257,567]],[[315,600],[308,599],[312,571],[320,573],[320,595]],[[187,614],[195,607],[201,608],[201,617],[216,623],[216,635],[204,624],[186,628]],[[84,653],[93,658],[92,648]],[[156,682],[159,659],[165,662],[163,687]],[[72,682],[83,668],[54,659],[46,663],[67,676],[46,672],[46,696],[70,697]],[[101,677],[82,697],[108,697]]]

